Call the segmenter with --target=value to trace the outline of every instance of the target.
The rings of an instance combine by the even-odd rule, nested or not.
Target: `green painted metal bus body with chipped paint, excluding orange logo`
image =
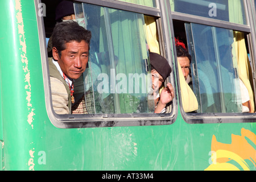
[[[242,128],[256,133],[255,123],[188,124],[180,112],[172,125],[58,129],[46,110],[34,1],[0,5],[2,169],[204,170],[213,135],[229,144]]]

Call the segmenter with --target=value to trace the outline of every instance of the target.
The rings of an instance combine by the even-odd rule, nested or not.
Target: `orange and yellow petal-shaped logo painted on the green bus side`
[[[212,138],[212,164],[205,170],[240,170],[237,166],[228,163],[234,160],[240,167],[250,170],[246,159],[250,160],[256,167],[256,135],[250,130],[242,129],[241,136],[232,134],[232,143],[217,142],[215,135]]]

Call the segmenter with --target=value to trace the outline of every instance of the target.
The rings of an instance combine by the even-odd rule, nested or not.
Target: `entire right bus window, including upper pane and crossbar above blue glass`
[[[215,5],[218,16],[210,16]],[[174,0],[171,7],[175,38],[192,57],[189,75],[198,109],[185,111],[187,116],[203,115],[205,122],[207,115],[254,113],[254,48],[244,2]]]

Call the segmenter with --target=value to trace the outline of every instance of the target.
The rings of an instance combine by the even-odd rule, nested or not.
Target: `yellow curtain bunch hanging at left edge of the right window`
[[[180,91],[181,91],[181,101],[182,101],[183,110],[186,113],[195,111],[198,109],[198,102],[197,102],[196,96],[193,93],[193,90],[185,81],[185,77],[182,73],[179,62],[177,62],[177,64],[179,68],[179,79],[180,79],[180,89],[181,89]]]

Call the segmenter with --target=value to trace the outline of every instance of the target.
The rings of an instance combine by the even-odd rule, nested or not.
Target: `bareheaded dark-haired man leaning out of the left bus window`
[[[85,71],[91,32],[77,22],[57,23],[52,33],[52,55],[48,58],[52,105],[57,114],[71,114],[73,80]]]

